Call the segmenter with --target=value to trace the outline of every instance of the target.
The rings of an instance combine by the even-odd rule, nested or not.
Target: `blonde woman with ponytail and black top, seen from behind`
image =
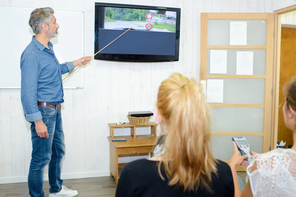
[[[202,88],[174,73],[158,91],[156,119],[165,151],[122,170],[115,197],[233,197],[228,164],[210,152],[210,117]]]

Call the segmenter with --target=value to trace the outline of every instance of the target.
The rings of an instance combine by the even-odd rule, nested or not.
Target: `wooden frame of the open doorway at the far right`
[[[280,91],[280,61],[281,61],[281,15],[296,10],[296,5],[274,11],[274,39],[273,39],[273,68],[272,68],[272,102],[271,102],[271,133],[270,148],[276,148],[278,117],[279,117],[279,93]]]

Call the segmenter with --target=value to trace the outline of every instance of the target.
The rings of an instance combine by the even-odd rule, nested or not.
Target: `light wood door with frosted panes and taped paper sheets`
[[[217,159],[231,158],[233,136],[269,151],[272,45],[272,13],[201,13],[200,82],[213,109]]]

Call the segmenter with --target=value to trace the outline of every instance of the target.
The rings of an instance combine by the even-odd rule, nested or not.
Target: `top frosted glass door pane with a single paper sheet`
[[[266,45],[266,20],[208,20],[208,45],[230,45],[230,22],[247,21],[247,45]]]

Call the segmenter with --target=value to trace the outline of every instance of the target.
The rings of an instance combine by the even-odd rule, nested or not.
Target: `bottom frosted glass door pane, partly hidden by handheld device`
[[[232,137],[233,136],[211,136],[212,153],[216,159],[230,160],[233,154],[233,145],[231,140]],[[262,136],[246,136],[246,138],[252,151],[256,153],[262,153]]]

